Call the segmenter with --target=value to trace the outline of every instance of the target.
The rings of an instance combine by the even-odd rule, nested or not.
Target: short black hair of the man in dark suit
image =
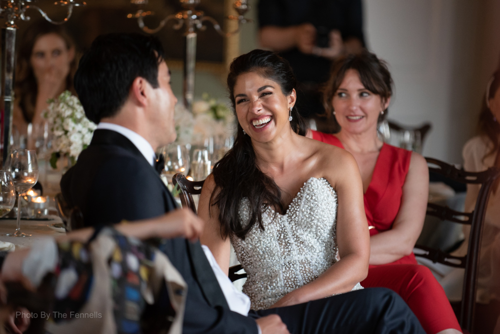
[[[137,76],[157,88],[163,54],[154,36],[109,33],[95,38],[74,75],[74,88],[87,118],[97,124],[115,115]]]

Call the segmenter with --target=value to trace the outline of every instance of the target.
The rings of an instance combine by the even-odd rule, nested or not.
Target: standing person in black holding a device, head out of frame
[[[261,46],[280,52],[297,77],[300,114],[323,114],[320,86],[332,60],[364,47],[361,0],[261,0],[258,20]]]

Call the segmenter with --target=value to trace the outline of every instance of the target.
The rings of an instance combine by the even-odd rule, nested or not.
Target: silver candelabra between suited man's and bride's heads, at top
[[[231,32],[224,32],[220,24],[210,16],[205,15],[202,11],[196,10],[195,7],[199,4],[200,0],[179,0],[182,5],[182,11],[175,14],[167,15],[163,18],[159,25],[151,29],[144,24],[144,17],[151,15],[151,11],[144,10],[147,0],[130,0],[131,3],[139,6],[135,14],[128,14],[129,18],[137,18],[139,28],[146,33],[155,33],[161,30],[169,20],[177,21],[173,25],[175,30],[180,30],[184,26],[185,50],[184,50],[184,79],[182,83],[184,106],[191,111],[192,101],[194,97],[194,69],[196,65],[196,30],[206,29],[205,22],[212,23],[214,29],[222,36],[230,36],[237,33],[242,23],[251,22],[250,19],[245,18],[243,15],[250,9],[246,0],[234,1],[234,9],[238,13],[237,16],[229,15],[228,19],[238,22],[236,30]]]

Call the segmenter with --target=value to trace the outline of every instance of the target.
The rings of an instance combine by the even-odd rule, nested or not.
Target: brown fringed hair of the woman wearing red
[[[363,51],[359,54],[349,54],[333,62],[330,78],[324,86],[323,105],[327,117],[330,117],[334,111],[331,100],[342,83],[345,72],[348,69],[355,69],[359,74],[359,79],[363,86],[372,93],[379,95],[382,103],[392,95],[393,81],[387,69],[387,63],[384,60],[378,59],[374,53],[368,51]],[[387,117],[387,108],[383,110],[383,114],[378,116],[378,122],[384,120],[385,117]],[[337,128],[340,129],[340,125],[338,125],[335,117],[333,117],[333,121],[337,125]]]

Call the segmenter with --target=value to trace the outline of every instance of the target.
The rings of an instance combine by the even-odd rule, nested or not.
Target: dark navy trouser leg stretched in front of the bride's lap
[[[365,288],[303,304],[250,311],[278,314],[291,334],[422,333],[408,305],[392,290]]]

